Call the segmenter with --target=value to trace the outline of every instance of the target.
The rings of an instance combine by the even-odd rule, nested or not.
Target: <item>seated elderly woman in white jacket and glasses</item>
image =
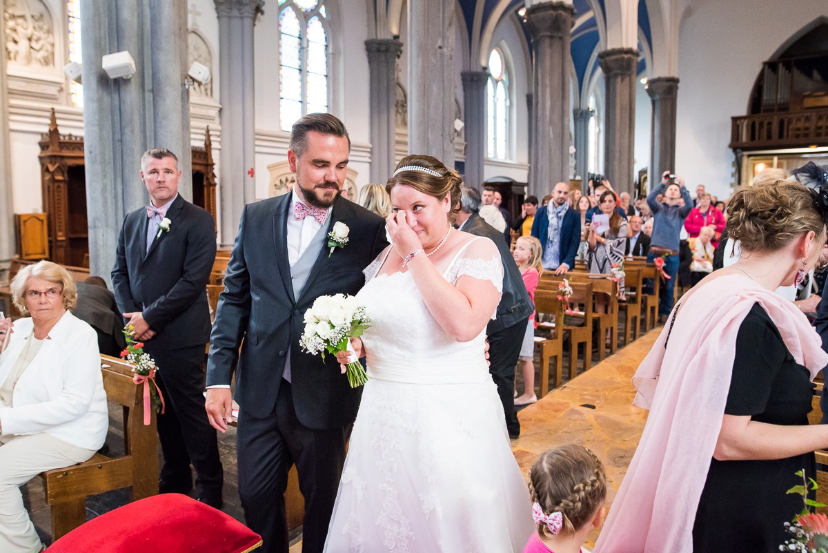
[[[89,459],[108,429],[94,329],[70,313],[75,282],[41,261],[12,281],[23,315],[0,320],[0,551],[41,551],[20,486]]]

